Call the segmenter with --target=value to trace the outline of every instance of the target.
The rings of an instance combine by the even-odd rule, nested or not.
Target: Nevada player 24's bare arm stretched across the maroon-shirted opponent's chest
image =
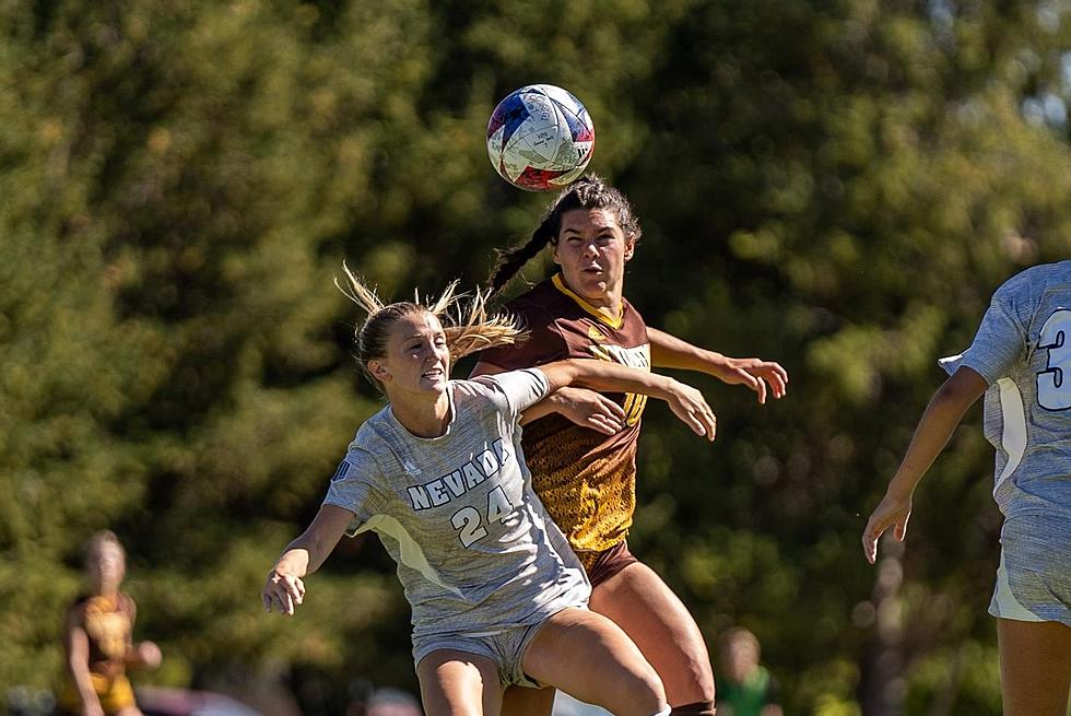
[[[632,368],[610,361],[572,359],[539,366],[551,392],[578,385],[593,390],[640,392],[669,403],[673,413],[696,435],[713,441],[717,429],[714,411],[695,388],[657,373]]]

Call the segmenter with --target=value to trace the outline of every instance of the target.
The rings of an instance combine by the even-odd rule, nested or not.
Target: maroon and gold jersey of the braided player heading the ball
[[[531,331],[517,347],[484,351],[483,363],[503,369],[565,359],[614,361],[650,369],[647,325],[622,298],[610,318],[562,281],[534,286],[507,307]],[[636,507],[636,443],[647,397],[610,394],[625,411],[626,426],[603,435],[551,413],[525,426],[525,460],[546,509],[588,570],[599,553],[621,543]]]

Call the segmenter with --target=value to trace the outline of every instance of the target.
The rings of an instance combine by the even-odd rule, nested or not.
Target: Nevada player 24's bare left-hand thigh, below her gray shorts
[[[485,656],[438,649],[416,665],[427,716],[499,716],[497,665]]]

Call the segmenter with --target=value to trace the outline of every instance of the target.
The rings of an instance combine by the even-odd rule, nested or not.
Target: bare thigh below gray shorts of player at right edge
[[[1004,716],[1064,716],[1071,690],[1071,626],[997,620]]]

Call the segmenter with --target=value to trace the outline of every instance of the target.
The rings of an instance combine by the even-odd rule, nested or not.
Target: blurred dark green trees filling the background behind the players
[[[859,536],[937,359],[1004,279],[1071,254],[1069,5],[0,2],[9,708],[60,674],[101,528],[128,551],[136,638],[164,652],[139,686],[276,716],[416,692],[375,538],[340,545],[295,619],[259,590],[380,406],[342,260],[388,298],[485,279],[551,199],[497,177],[487,118],[544,82],[587,105],[589,168],[635,204],[648,324],[791,375],[765,408],[692,376],[713,446],[648,409],[633,551],[713,656],[757,635],[787,714],[999,713],[977,408],[906,544],[871,567]]]

